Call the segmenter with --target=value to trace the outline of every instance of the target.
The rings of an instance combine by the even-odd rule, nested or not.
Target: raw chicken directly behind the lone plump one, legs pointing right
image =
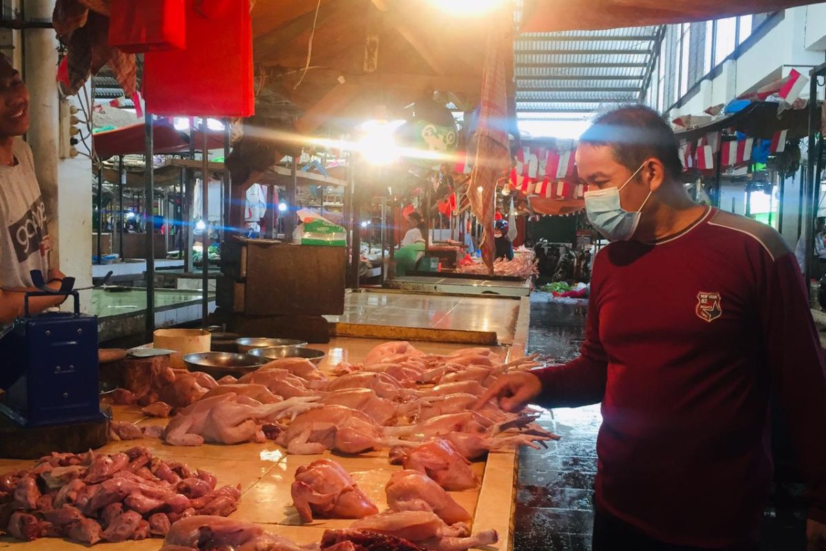
[[[321,454],[325,449],[361,454],[370,449],[405,444],[387,438],[376,421],[345,406],[323,406],[297,416],[278,439],[290,454]]]

